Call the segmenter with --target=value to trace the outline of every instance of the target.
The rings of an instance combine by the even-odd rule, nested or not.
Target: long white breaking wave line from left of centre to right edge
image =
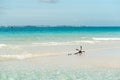
[[[97,38],[91,37],[86,40],[78,40],[78,41],[64,41],[64,42],[35,42],[32,43],[33,45],[40,45],[40,46],[64,46],[64,45],[80,45],[82,43],[85,44],[95,44],[101,41],[120,41],[120,38]]]

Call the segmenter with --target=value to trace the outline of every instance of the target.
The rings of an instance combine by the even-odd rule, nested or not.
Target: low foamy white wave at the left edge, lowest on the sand
[[[27,59],[27,58],[31,58],[33,57],[32,54],[25,54],[25,55],[0,55],[0,58],[4,58],[4,59]]]

